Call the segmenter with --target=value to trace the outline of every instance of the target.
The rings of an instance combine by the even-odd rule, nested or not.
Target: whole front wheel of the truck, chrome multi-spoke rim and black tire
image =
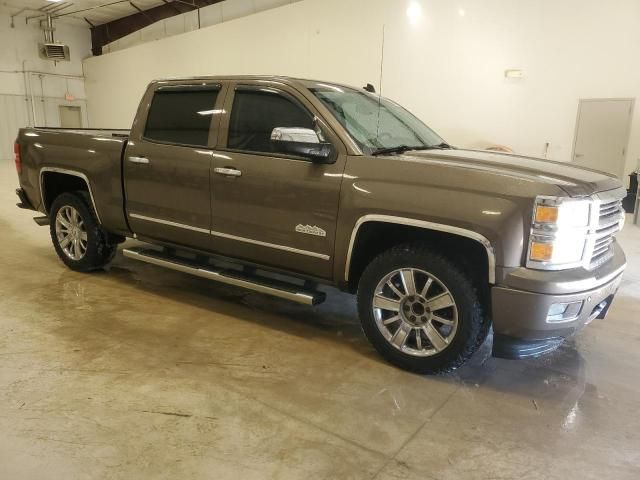
[[[376,350],[417,373],[458,368],[489,330],[469,276],[422,244],[394,247],[369,264],[358,286],[358,312]]]

